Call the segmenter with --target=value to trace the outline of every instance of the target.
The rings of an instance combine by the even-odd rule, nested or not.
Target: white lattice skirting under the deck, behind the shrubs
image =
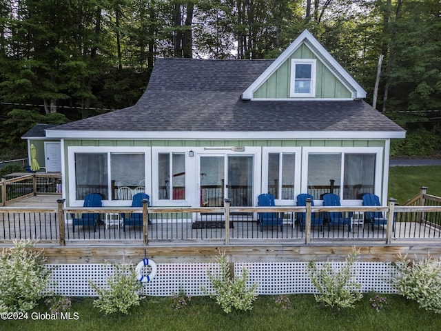
[[[342,263],[332,262],[331,265],[338,270]],[[111,265],[104,264],[48,265],[48,268],[52,269],[48,292],[69,297],[95,297],[90,281],[105,287],[107,278],[114,272]],[[307,262],[235,263],[235,274],[240,274],[243,268],[249,271],[249,284],[258,283],[258,294],[316,293],[306,273]],[[158,264],[156,277],[145,283],[144,294],[170,297],[172,293],[184,290],[192,296],[205,295],[212,290],[207,270],[218,274],[218,263]],[[362,292],[396,293],[389,282],[393,274],[391,263],[358,262],[353,270],[355,280],[362,285]]]

